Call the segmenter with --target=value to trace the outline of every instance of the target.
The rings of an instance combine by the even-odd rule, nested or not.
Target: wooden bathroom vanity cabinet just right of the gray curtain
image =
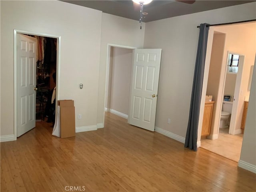
[[[210,135],[210,130],[212,126],[212,111],[213,111],[214,101],[205,102],[204,104],[204,118],[202,124],[201,137]]]

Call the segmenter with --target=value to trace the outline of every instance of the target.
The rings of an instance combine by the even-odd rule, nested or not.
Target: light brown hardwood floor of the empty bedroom
[[[39,122],[17,141],[1,143],[1,192],[256,191],[256,174],[236,162],[188,150],[114,114],[106,113],[105,128],[73,138],[51,132]]]

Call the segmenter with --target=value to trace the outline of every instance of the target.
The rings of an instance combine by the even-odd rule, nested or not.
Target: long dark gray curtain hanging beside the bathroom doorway
[[[200,113],[200,102],[204,78],[204,62],[208,39],[209,24],[200,24],[200,33],[196,54],[196,65],[194,71],[194,81],[191,94],[190,112],[188,119],[188,129],[186,133],[185,147],[190,150],[197,150],[197,132]]]

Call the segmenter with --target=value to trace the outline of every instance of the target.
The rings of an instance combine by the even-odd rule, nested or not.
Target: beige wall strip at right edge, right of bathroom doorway
[[[255,61],[256,64],[256,61]],[[256,67],[254,67],[252,77],[252,87],[250,90],[250,99],[247,111],[247,117],[244,128],[244,138],[242,143],[242,151],[238,166],[247,168],[244,163],[251,167],[248,169],[256,173]],[[253,170],[254,168],[254,170]]]

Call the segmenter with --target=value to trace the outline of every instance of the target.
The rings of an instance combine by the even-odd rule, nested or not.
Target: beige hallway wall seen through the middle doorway
[[[132,49],[113,47],[112,51],[109,108],[128,115]]]

